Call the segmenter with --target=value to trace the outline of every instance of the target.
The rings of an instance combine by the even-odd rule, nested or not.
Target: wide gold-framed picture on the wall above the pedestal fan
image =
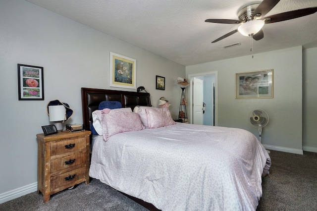
[[[273,98],[273,69],[236,73],[236,99]]]

